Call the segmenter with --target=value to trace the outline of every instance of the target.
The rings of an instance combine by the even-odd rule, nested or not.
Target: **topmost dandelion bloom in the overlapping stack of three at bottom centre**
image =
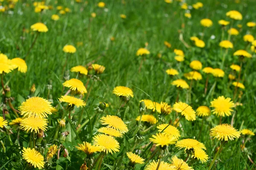
[[[102,116],[99,122],[102,125],[108,125],[107,127],[112,127],[116,130],[119,130],[121,133],[128,132],[127,125],[118,116],[114,116],[114,115],[106,115],[106,117]]]

